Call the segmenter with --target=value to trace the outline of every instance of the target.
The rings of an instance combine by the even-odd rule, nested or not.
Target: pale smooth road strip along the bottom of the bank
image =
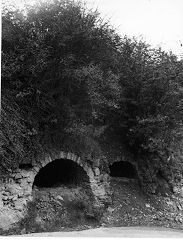
[[[17,235],[16,235],[17,236]],[[73,232],[47,232],[19,235],[19,237],[158,237],[158,238],[183,238],[183,231],[170,228],[152,227],[112,227],[95,228]]]

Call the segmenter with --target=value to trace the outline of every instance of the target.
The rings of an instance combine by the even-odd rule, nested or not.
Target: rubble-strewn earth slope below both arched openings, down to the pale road
[[[183,230],[183,198],[149,195],[136,180],[111,178],[112,203],[103,212],[95,209],[90,193],[76,186],[35,190],[26,219],[3,235],[69,232],[107,227],[166,227]],[[103,229],[103,228],[102,228]],[[105,230],[105,232],[108,230]],[[110,230],[109,230],[110,231]],[[92,234],[95,230],[92,230]]]

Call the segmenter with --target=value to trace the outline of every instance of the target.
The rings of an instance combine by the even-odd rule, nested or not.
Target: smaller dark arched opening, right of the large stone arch
[[[109,166],[111,177],[124,177],[136,179],[137,172],[133,164],[130,162],[120,161]]]

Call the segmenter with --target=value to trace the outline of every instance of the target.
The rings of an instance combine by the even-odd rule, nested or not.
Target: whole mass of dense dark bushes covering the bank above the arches
[[[182,77],[176,56],[121,38],[80,2],[4,8],[2,171],[64,148],[90,161],[129,153],[144,179],[179,178]]]

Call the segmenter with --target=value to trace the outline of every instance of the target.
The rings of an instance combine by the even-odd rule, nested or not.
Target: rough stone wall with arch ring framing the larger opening
[[[101,173],[99,166],[89,165],[84,159],[73,153],[63,151],[46,155],[34,162],[28,169],[17,169],[8,179],[1,179],[0,183],[0,228],[8,229],[26,214],[27,202],[32,200],[32,186],[35,176],[48,163],[60,159],[69,159],[81,166],[89,177],[89,182],[95,204],[104,205],[109,201],[108,175]]]

